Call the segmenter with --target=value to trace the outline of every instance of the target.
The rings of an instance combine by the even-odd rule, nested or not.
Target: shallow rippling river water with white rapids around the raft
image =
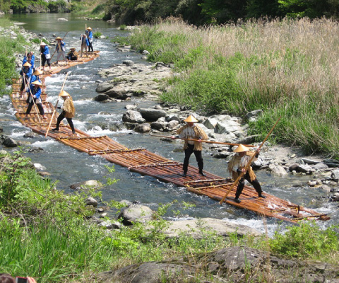
[[[59,74],[47,77],[48,100],[53,104],[57,101],[58,93],[62,83],[69,74],[65,91],[73,96],[76,107],[76,117],[73,119],[76,128],[87,132],[92,136],[107,135],[112,139],[124,144],[130,149],[143,147],[149,151],[155,152],[167,158],[173,158],[177,161],[183,161],[184,154],[177,151],[182,148],[180,141],[168,143],[160,141],[157,137],[151,137],[149,134],[137,134],[124,129],[121,123],[121,117],[126,111],[126,104],[136,104],[141,107],[152,107],[156,103],[142,98],[133,98],[132,101],[121,103],[98,103],[92,99],[97,96],[95,88],[96,81],[101,79],[97,75],[100,69],[108,68],[112,64],[121,64],[124,59],[131,59],[133,62],[148,64],[141,60],[141,54],[135,52],[122,53],[117,52],[116,46],[111,42],[113,37],[126,36],[128,31],[117,30],[117,26],[104,21],[85,21],[81,18],[74,18],[69,13],[35,13],[12,15],[11,20],[25,23],[24,28],[33,33],[42,33],[47,39],[52,35],[64,37],[66,50],[70,47],[78,47],[79,37],[84,33],[85,25],[93,28],[93,32],[100,31],[107,38],[103,40],[94,40],[94,50],[100,50],[100,57],[92,62],[81,64],[70,69],[65,69]],[[68,21],[58,21],[58,18],[66,18]],[[78,48],[77,48],[78,49]],[[54,48],[51,47],[52,52]],[[38,54],[38,50],[32,50]],[[104,79],[105,80],[105,79]],[[109,185],[102,189],[103,200],[130,200],[138,201],[148,205],[152,209],[157,209],[160,203],[168,203],[177,200],[172,209],[180,209],[181,202],[194,204],[195,207],[181,209],[182,218],[214,217],[217,219],[227,219],[237,224],[245,224],[259,231],[268,229],[270,236],[273,235],[278,226],[285,227],[287,223],[280,223],[277,219],[266,219],[264,225],[263,219],[252,212],[244,209],[237,209],[230,205],[220,206],[218,202],[210,200],[208,197],[202,197],[187,192],[184,187],[177,187],[172,184],[162,183],[155,178],[142,176],[138,173],[131,173],[127,168],[115,167],[115,173],[109,174],[105,165],[112,164],[99,156],[88,156],[54,141],[54,139],[44,138],[42,136],[33,139],[25,139],[23,135],[30,132],[30,129],[24,127],[16,120],[15,111],[11,106],[11,100],[8,96],[0,98],[0,122],[4,128],[4,134],[13,137],[16,140],[30,141],[32,146],[44,149],[40,153],[25,154],[30,157],[34,163],[40,163],[46,167],[53,180],[59,180],[57,187],[65,192],[71,192],[69,186],[76,182],[84,180],[100,180],[106,182],[106,177],[117,178],[119,182]],[[66,120],[64,120],[66,122]],[[118,128],[117,131],[114,128]],[[206,171],[210,171],[220,176],[228,176],[226,172],[227,162],[223,159],[215,159],[207,151],[203,151],[203,158]],[[191,156],[191,164],[196,166],[194,156]],[[305,184],[309,177],[297,177],[288,175],[285,178],[275,178],[265,171],[258,171],[258,180],[261,182],[263,191],[268,192],[285,200],[290,200],[299,205],[313,208],[319,213],[331,214],[331,220],[319,222],[323,227],[335,224],[339,219],[338,204],[327,203],[326,193],[320,189],[307,186],[297,186]],[[174,218],[172,209],[169,209],[167,216]]]

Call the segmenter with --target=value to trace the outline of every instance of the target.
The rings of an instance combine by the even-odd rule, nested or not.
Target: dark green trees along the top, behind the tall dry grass
[[[249,18],[338,18],[339,0],[108,0],[106,18],[133,25],[181,16],[195,25]]]

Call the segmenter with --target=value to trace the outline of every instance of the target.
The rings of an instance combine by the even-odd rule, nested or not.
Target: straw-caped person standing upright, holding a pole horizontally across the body
[[[189,115],[184,122],[186,125],[177,130],[177,134],[179,135],[179,139],[198,139],[198,141],[188,141],[185,140],[184,143],[184,151],[185,151],[185,159],[183,170],[183,176],[186,177],[187,170],[189,168],[189,157],[192,153],[196,156],[196,162],[198,162],[199,174],[205,175],[203,173],[203,156],[201,155],[201,151],[203,150],[203,146],[201,143],[202,139],[208,139],[207,134],[203,132],[201,127],[198,127],[195,123],[198,122],[195,117]],[[177,137],[172,136],[172,139],[176,139]]]

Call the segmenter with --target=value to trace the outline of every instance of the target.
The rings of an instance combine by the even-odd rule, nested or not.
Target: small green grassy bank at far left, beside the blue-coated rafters
[[[0,28],[9,28],[11,25],[8,19],[0,18]],[[20,35],[15,40],[6,35],[1,35],[0,37],[0,96],[9,93],[6,85],[11,84],[11,79],[18,76],[16,74],[14,52],[25,52],[23,48],[24,42],[25,39]]]

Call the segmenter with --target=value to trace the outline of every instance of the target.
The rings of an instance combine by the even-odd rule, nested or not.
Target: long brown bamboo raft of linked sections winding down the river
[[[88,62],[97,56],[98,52],[94,52],[83,61],[69,62],[65,66],[54,67],[52,73],[56,74],[61,69]],[[47,72],[40,76],[43,85],[44,77],[49,75],[49,72]],[[54,106],[46,101],[47,95],[44,93],[42,100],[47,120],[39,118],[39,114],[35,112],[34,107],[30,115],[25,119],[26,98],[26,95],[20,97],[20,81],[13,79],[11,99],[16,110],[17,119],[23,125],[32,129],[33,132],[45,135]],[[51,127],[55,127],[56,123],[57,117],[54,115]],[[128,149],[126,146],[117,143],[117,141],[107,136],[91,137],[79,129],[76,129],[76,134],[73,134],[71,128],[62,122],[59,126],[59,132],[49,131],[47,135],[78,151],[102,156],[102,158],[106,158],[111,163],[128,168],[129,171],[140,173],[141,175],[150,175],[164,182],[186,187],[189,192],[210,197],[218,202],[222,200],[222,197],[225,196],[233,182],[230,178],[221,178],[208,172],[205,172],[206,176],[202,176],[198,174],[198,168],[194,166],[189,166],[188,175],[184,178],[182,176],[181,162],[153,154],[147,149]],[[267,193],[264,193],[264,195],[266,196],[265,199],[257,197],[256,190],[245,185],[241,195],[242,202],[234,202],[235,188],[226,197],[224,202],[234,207],[256,212],[261,216],[275,217],[284,221],[297,222],[302,219],[330,219],[326,214],[319,214],[312,209],[301,207]]]

